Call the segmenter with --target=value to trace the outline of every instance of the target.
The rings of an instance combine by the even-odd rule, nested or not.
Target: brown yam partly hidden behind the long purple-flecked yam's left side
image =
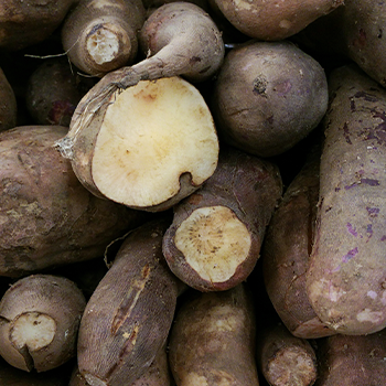
[[[305,292],[319,201],[320,156],[318,144],[287,187],[268,225],[261,251],[267,294],[286,328],[301,339],[334,334],[318,318]]]

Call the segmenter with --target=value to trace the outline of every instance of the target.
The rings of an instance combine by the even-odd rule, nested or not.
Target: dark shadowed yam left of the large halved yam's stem
[[[74,74],[64,57],[44,61],[26,84],[25,104],[32,121],[68,127],[76,105],[94,84]]]

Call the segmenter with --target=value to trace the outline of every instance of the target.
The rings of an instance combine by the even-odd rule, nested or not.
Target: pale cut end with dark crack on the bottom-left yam
[[[47,314],[26,312],[12,323],[10,339],[17,349],[28,347],[30,352],[46,347],[55,337],[56,323]]]

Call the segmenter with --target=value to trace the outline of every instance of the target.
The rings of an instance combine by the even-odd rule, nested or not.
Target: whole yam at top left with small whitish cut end
[[[82,0],[61,29],[69,61],[89,75],[132,64],[146,11],[140,0]]]

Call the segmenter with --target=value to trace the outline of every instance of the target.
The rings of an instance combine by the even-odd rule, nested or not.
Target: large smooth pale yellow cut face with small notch
[[[218,158],[211,111],[180,77],[140,82],[112,96],[93,158],[95,185],[106,197],[135,207],[161,204],[210,178]]]

